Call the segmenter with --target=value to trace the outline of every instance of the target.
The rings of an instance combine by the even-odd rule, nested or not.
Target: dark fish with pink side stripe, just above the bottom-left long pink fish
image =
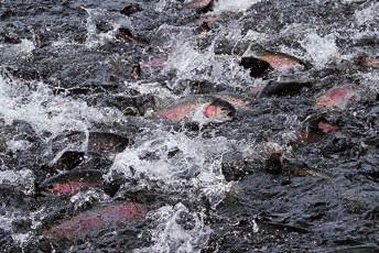
[[[52,176],[42,182],[37,189],[43,196],[73,196],[90,188],[102,188],[102,174],[94,169],[72,170]]]

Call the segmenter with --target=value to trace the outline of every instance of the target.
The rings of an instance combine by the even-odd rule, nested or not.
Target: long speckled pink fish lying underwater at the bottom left
[[[144,219],[148,208],[136,202],[118,202],[84,211],[43,231],[48,239],[85,238],[100,229],[111,228]]]

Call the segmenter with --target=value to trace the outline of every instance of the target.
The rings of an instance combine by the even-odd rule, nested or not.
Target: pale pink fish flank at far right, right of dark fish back
[[[357,98],[358,94],[353,86],[342,86],[329,89],[317,100],[317,106],[345,109],[349,102]]]

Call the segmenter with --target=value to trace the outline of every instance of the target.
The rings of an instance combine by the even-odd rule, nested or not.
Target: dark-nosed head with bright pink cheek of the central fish
[[[223,99],[215,99],[204,109],[204,116],[208,121],[225,122],[235,118],[236,109]]]

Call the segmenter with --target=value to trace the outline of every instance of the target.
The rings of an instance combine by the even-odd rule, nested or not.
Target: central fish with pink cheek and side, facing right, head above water
[[[198,123],[230,121],[235,114],[236,109],[228,101],[207,95],[184,98],[158,112],[160,119]]]

